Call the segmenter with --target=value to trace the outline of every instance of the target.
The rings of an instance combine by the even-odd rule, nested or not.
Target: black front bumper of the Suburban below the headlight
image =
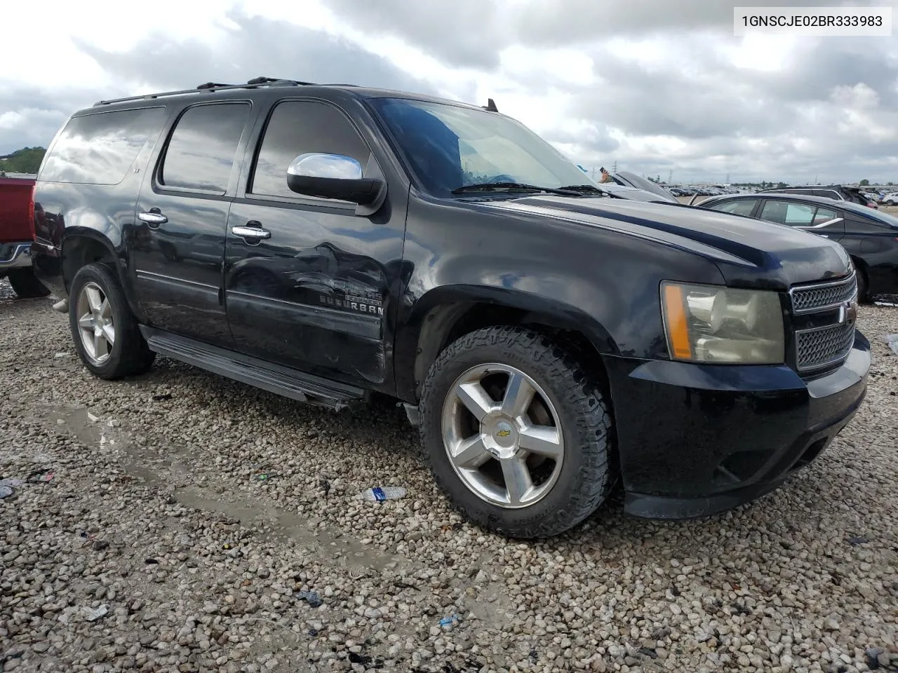
[[[691,519],[777,488],[825,450],[867,391],[870,345],[814,380],[787,366],[605,359],[624,509]]]

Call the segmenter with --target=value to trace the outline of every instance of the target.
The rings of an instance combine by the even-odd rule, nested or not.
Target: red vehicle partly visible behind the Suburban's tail
[[[9,278],[22,298],[46,297],[48,289],[31,267],[34,178],[0,177],[0,278]]]

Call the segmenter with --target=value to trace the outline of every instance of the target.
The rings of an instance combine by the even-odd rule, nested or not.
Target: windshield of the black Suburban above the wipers
[[[449,197],[453,189],[482,182],[596,185],[539,135],[495,112],[409,99],[371,103],[434,196]]]

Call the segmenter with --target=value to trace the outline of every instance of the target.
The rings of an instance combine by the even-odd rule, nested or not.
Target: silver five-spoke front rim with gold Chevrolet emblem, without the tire
[[[455,473],[481,500],[528,507],[558,480],[559,415],[540,385],[515,367],[481,364],[465,371],[445,398],[442,430]]]

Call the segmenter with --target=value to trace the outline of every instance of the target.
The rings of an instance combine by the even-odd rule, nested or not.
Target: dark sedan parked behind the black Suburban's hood
[[[838,241],[858,269],[858,299],[898,294],[898,217],[850,201],[760,192],[711,197],[701,208],[804,229]]]

